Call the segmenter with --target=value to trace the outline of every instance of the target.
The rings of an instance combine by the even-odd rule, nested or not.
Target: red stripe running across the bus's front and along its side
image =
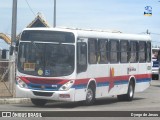
[[[101,82],[111,82],[111,81],[126,81],[129,80],[129,77],[132,75],[124,75],[124,76],[112,76],[112,77],[97,77],[93,78],[96,80],[97,83]],[[137,74],[133,75],[135,79],[138,81],[139,79],[143,78],[151,78],[151,74]],[[34,78],[34,77],[19,77],[25,83],[35,83],[35,84],[65,84],[69,81],[69,79],[51,79],[51,78]],[[79,84],[87,84],[91,78],[83,78],[83,79],[76,79],[75,85]]]

